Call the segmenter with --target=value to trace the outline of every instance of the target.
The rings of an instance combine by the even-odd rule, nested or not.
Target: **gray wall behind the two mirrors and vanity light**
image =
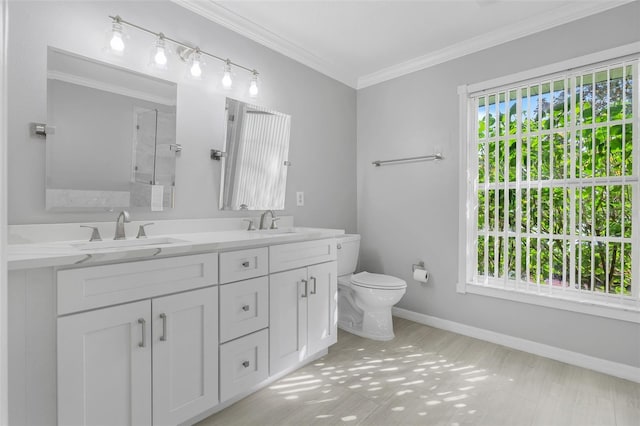
[[[45,143],[29,135],[30,122],[47,121],[47,46],[156,75],[178,83],[176,208],[132,209],[133,220],[246,216],[218,210],[220,163],[209,149],[223,147],[224,100],[245,101],[249,76],[237,71],[234,89],[221,89],[222,63],[207,60],[202,81],[185,78],[182,63],[161,73],[149,67],[153,37],[128,29],[122,57],[106,51],[108,15],[119,14],[154,31],[255,67],[257,103],[292,116],[286,208],[296,225],[356,229],[356,91],[164,0],[128,2],[11,1],[8,61],[9,224],[109,221],[114,213],[45,211]],[[172,65],[174,65],[172,67]],[[295,192],[305,192],[296,207]]]

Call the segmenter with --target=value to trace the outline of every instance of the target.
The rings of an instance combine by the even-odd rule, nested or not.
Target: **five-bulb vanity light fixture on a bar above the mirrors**
[[[222,58],[220,56],[216,56],[212,53],[205,52],[201,50],[199,47],[189,46],[188,44],[177,41],[173,38],[167,37],[163,33],[156,33],[147,28],[136,25],[132,22],[125,21],[119,15],[111,16],[109,18],[112,20],[111,24],[111,39],[109,40],[109,46],[111,50],[115,53],[122,54],[125,48],[124,37],[122,32],[123,25],[127,25],[129,27],[135,28],[147,34],[151,34],[156,37],[156,42],[154,44],[154,48],[152,51],[152,63],[156,67],[160,69],[165,69],[167,66],[167,53],[169,52],[167,49],[167,41],[178,46],[177,53],[180,58],[187,62],[188,74],[190,77],[195,79],[200,79],[202,77],[202,68],[204,62],[202,61],[203,56],[208,56],[213,59],[217,59],[218,61],[224,62],[224,74],[222,77],[222,87],[225,89],[230,89],[233,80],[231,78],[231,67],[234,66],[236,68],[241,68],[251,74],[251,81],[249,84],[249,96],[255,98],[258,96],[258,71],[253,68],[248,68],[243,65],[232,62],[229,58]]]

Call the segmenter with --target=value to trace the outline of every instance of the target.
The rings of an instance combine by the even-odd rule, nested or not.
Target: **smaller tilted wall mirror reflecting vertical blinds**
[[[227,98],[221,210],[283,210],[291,116]]]

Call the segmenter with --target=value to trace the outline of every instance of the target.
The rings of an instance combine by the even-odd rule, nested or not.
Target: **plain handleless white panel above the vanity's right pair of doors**
[[[304,241],[269,247],[271,272],[336,260],[336,240]]]

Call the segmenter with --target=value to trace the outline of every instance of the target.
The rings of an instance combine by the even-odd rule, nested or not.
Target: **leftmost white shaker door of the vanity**
[[[58,318],[58,424],[151,425],[150,302]]]

